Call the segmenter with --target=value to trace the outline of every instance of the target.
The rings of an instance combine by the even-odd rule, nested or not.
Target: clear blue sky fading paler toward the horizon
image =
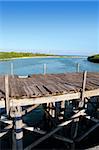
[[[0,51],[99,53],[99,1],[1,1]]]

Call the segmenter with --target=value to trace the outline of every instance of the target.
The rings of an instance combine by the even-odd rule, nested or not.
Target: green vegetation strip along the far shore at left
[[[42,56],[54,56],[51,54],[41,53],[22,53],[22,52],[0,52],[1,60],[8,60],[12,58],[24,58],[24,57],[42,57]]]

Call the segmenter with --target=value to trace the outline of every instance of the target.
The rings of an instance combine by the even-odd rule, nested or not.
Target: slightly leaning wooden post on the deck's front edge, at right
[[[86,86],[86,77],[87,77],[87,71],[83,74],[83,88],[81,93],[81,101],[79,102],[79,107],[82,108],[84,106],[84,92],[85,92],[85,86]]]

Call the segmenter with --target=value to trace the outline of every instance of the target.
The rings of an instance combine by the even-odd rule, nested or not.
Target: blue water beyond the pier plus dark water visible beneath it
[[[89,72],[99,72],[99,64],[91,63],[87,61],[86,57],[81,58],[28,58],[28,59],[14,59],[10,61],[0,61],[0,74],[11,74],[11,63],[13,63],[14,74],[16,75],[31,75],[31,74],[39,74],[43,73],[44,64],[47,65],[47,73],[65,73],[65,72],[75,72],[77,69],[77,63],[80,64],[80,71],[87,70]],[[24,122],[29,125],[34,123],[37,125],[43,118],[44,111],[42,108],[37,108],[33,110],[31,113],[27,114],[23,117]],[[89,136],[87,141],[84,143],[77,144],[77,149],[86,148],[88,143],[92,144],[95,139],[99,143],[98,135],[99,128],[94,133],[94,137]],[[10,137],[9,137],[10,136]],[[33,133],[24,133],[24,146],[31,144],[33,139],[35,138]],[[91,141],[91,142],[90,142]],[[30,142],[30,143],[29,143]],[[58,143],[58,144],[57,144]],[[11,147],[11,132],[8,136],[2,139],[2,147],[1,149],[7,149]],[[50,146],[50,147],[49,147]],[[66,149],[65,142],[55,141],[53,138],[49,138],[45,140],[43,144],[41,143],[38,148],[42,149]]]

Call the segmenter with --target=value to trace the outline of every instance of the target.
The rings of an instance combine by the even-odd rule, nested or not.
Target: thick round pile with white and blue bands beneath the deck
[[[23,150],[23,131],[22,131],[22,110],[21,107],[16,107],[15,109],[15,118],[14,118],[14,129],[15,129],[15,140],[13,137],[13,145],[16,143],[16,150]],[[13,146],[14,147],[14,146]]]

